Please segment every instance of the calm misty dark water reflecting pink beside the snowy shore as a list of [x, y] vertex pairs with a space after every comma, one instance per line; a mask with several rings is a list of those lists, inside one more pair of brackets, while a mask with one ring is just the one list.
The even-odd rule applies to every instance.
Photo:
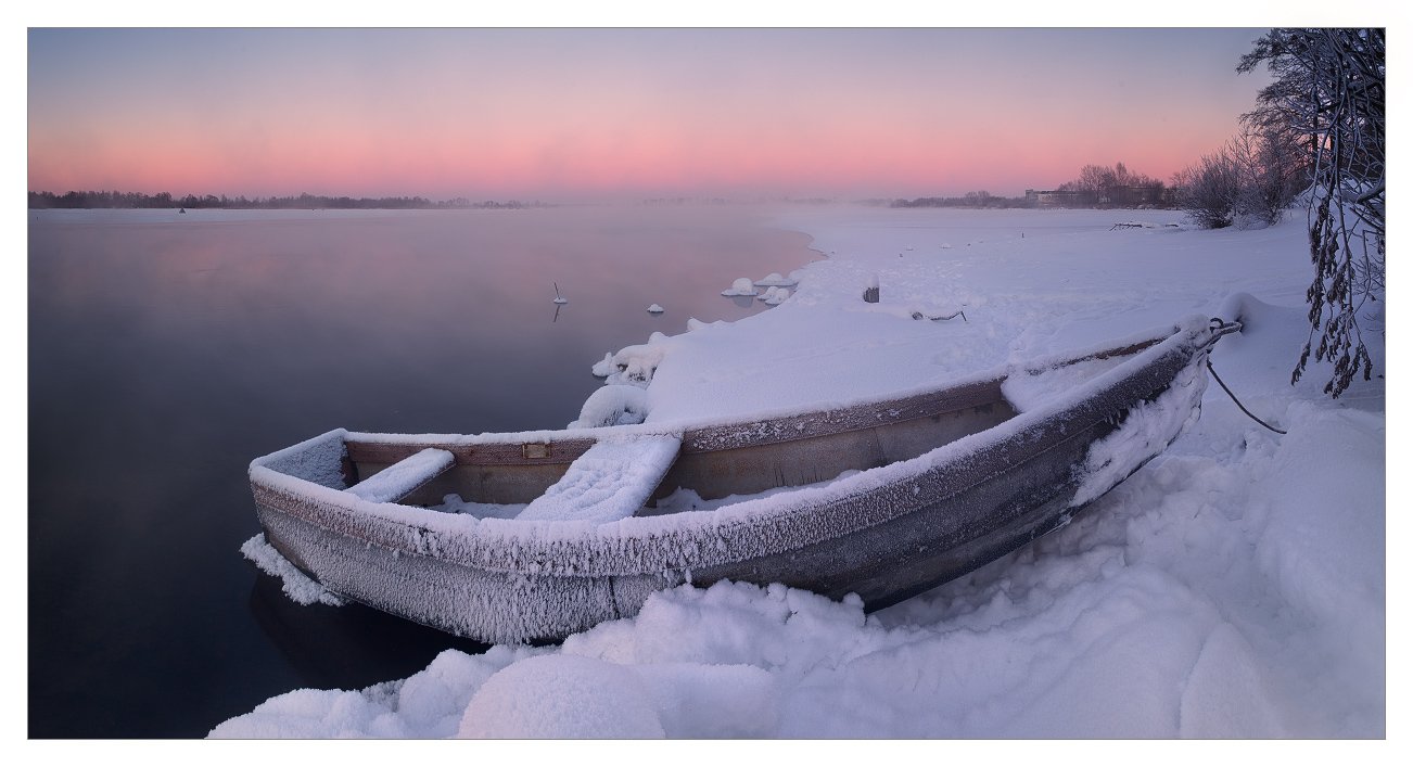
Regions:
[[285, 599], [237, 551], [250, 459], [562, 427], [606, 352], [764, 311], [719, 292], [814, 256], [736, 209], [28, 216], [31, 737], [199, 737], [482, 650]]

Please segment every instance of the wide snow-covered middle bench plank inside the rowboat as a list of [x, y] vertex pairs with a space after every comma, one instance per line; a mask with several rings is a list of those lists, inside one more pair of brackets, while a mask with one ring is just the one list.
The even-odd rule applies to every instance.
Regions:
[[681, 444], [673, 435], [599, 439], [516, 518], [606, 523], [632, 517], [677, 460]]

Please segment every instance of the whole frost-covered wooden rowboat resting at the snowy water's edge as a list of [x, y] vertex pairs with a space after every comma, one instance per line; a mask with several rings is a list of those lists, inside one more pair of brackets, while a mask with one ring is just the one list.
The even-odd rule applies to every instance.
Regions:
[[[336, 429], [256, 459], [250, 484], [268, 542], [326, 589], [482, 641], [560, 640], [721, 579], [877, 609], [1067, 524], [1159, 455], [1197, 418], [1202, 363], [1235, 329], [1193, 319], [733, 422]], [[663, 509], [678, 489], [725, 500]], [[438, 510], [452, 493], [499, 511]]]

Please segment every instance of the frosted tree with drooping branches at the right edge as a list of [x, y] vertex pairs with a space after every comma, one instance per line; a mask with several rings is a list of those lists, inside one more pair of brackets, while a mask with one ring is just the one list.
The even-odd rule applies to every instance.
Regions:
[[1316, 277], [1306, 292], [1310, 339], [1290, 380], [1300, 380], [1314, 346], [1317, 362], [1334, 363], [1324, 388], [1332, 397], [1373, 370], [1359, 319], [1368, 301], [1383, 299], [1383, 51], [1382, 28], [1272, 30], [1236, 66], [1265, 62], [1273, 76], [1246, 120], [1300, 136], [1310, 155]]

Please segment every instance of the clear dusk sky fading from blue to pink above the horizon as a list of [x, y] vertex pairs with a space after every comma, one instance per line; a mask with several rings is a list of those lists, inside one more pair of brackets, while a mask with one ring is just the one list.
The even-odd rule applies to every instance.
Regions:
[[1229, 138], [1260, 30], [34, 30], [31, 191], [1019, 195]]

